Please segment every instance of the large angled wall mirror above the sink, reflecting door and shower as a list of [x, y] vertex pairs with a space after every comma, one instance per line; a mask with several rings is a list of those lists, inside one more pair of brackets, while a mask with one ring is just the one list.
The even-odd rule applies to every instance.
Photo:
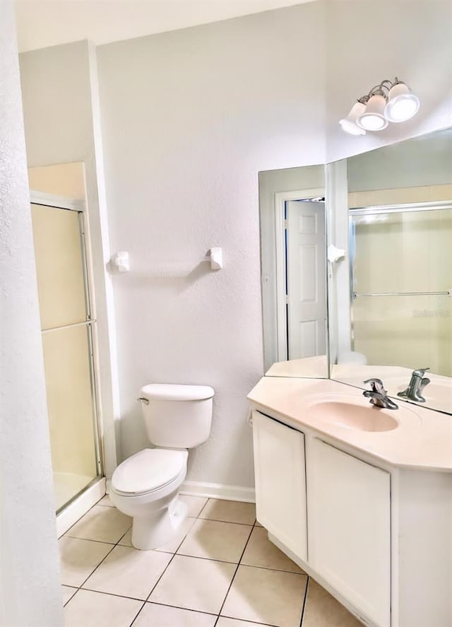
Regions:
[[452, 414], [452, 129], [259, 187], [266, 374]]

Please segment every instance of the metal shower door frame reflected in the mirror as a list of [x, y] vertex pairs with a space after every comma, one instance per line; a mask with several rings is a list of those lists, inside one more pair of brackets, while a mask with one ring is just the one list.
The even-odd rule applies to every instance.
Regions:
[[353, 216], [377, 216], [382, 213], [415, 213], [416, 211], [439, 211], [452, 209], [452, 200], [431, 202], [408, 202], [403, 204], [371, 205], [353, 207], [348, 210], [348, 250], [350, 273], [350, 345], [355, 350], [355, 325], [353, 321], [353, 301], [355, 300], [353, 262], [355, 261], [355, 235], [353, 233]]

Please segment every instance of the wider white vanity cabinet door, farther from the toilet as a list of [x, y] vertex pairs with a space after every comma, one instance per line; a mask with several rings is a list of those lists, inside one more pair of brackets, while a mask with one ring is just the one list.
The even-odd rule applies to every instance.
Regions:
[[390, 474], [309, 443], [309, 563], [379, 627], [390, 625]]

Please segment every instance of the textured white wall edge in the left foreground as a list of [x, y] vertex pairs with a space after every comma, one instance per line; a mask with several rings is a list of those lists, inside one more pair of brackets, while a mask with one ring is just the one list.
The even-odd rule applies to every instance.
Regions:
[[0, 624], [63, 624], [12, 3], [0, 2]]

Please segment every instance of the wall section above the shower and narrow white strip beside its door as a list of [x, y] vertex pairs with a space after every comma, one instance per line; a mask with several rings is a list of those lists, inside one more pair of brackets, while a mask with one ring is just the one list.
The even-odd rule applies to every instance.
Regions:
[[20, 78], [28, 166], [37, 168], [81, 161], [85, 164], [100, 348], [97, 386], [105, 428], [105, 470], [110, 476], [116, 467], [119, 445], [119, 438], [117, 443], [114, 441], [115, 424], [117, 426], [119, 421], [119, 398], [112, 284], [106, 272], [109, 241], [93, 46], [88, 42], [76, 42], [20, 54]]

